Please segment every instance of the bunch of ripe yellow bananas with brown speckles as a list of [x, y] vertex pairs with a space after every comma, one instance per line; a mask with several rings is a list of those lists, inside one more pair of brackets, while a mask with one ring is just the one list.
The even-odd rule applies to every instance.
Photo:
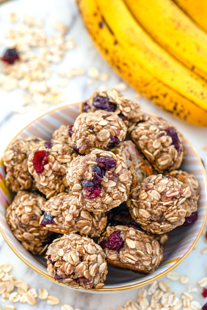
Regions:
[[207, 1], [76, 1], [99, 51], [126, 81], [173, 115], [207, 126]]

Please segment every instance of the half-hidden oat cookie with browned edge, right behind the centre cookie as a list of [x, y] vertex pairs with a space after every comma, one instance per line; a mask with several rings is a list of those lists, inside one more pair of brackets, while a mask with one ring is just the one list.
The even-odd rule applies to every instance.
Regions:
[[148, 162], [144, 155], [137, 149], [136, 144], [131, 140], [124, 141], [119, 147], [121, 155], [125, 156], [126, 162], [133, 176], [131, 188], [140, 185], [149, 175], [157, 174], [153, 166]]

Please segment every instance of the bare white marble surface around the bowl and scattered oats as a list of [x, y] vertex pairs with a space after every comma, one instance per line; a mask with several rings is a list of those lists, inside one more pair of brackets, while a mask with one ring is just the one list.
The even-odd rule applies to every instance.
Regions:
[[[79, 17], [78, 10], [72, 0], [15, 0], [9, 1], [0, 6], [0, 42], [2, 42], [1, 50], [6, 47], [3, 33], [5, 29], [10, 27], [9, 14], [16, 12], [19, 15], [29, 14], [36, 18], [46, 21], [46, 29], [48, 34], [53, 34], [53, 25], [56, 20], [69, 26], [69, 35], [74, 41], [77, 42], [77, 47], [68, 52], [63, 61], [63, 68], [83, 67], [89, 69], [96, 67], [101, 73], [109, 73], [110, 79], [103, 82], [96, 82], [92, 86], [87, 85], [88, 76], [77, 77], [70, 80], [68, 87], [64, 89], [67, 101], [64, 104], [78, 102], [85, 100], [93, 90], [98, 89], [100, 85], [106, 85], [107, 88], [113, 87], [120, 81], [119, 77], [113, 70], [106, 64], [106, 62], [99, 55], [97, 50], [93, 47], [92, 41], [88, 33], [83, 27], [82, 21]], [[55, 66], [54, 66], [55, 68]], [[135, 91], [128, 86], [128, 89], [123, 92], [133, 99]], [[1, 98], [1, 113], [0, 113], [0, 153], [6, 148], [9, 141], [29, 122], [41, 115], [43, 112], [36, 111], [32, 107], [28, 107], [26, 113], [16, 114], [13, 109], [19, 104], [20, 91], [5, 92], [0, 89]], [[149, 101], [141, 99], [141, 106], [152, 112], [158, 113], [160, 116], [173, 122], [179, 130], [187, 137], [191, 144], [196, 148], [200, 157], [205, 162], [207, 167], [207, 151], [203, 150], [204, 144], [207, 144], [207, 128], [196, 127], [161, 111]], [[54, 106], [50, 107], [51, 109]], [[181, 275], [187, 274], [190, 276], [190, 284], [196, 286], [196, 282], [206, 275], [205, 268], [207, 267], [206, 258], [207, 254], [201, 255], [200, 250], [207, 247], [205, 238], [202, 235], [197, 243], [196, 249], [188, 255], [188, 257], [175, 269]], [[9, 248], [6, 242], [0, 236], [0, 264], [11, 263], [13, 266], [13, 274], [18, 279], [23, 279], [30, 284], [31, 287], [41, 288], [45, 287], [49, 290], [50, 294], [56, 295], [61, 299], [61, 304], [69, 303], [74, 308], [82, 308], [83, 310], [104, 310], [106, 308], [117, 309], [118, 306], [124, 304], [127, 299], [135, 299], [137, 289], [128, 290], [114, 294], [88, 294], [70, 290], [69, 288], [62, 287], [56, 283], [52, 283], [43, 278], [39, 274], [33, 272], [28, 268]], [[168, 280], [169, 281], [169, 280]], [[170, 281], [169, 281], [170, 282]], [[182, 286], [178, 282], [170, 282], [172, 290], [177, 294], [187, 290], [187, 286]], [[196, 300], [200, 301], [201, 305], [207, 302], [201, 294], [201, 289], [198, 288], [198, 293], [192, 293]], [[0, 300], [0, 306], [9, 304]], [[16, 304], [16, 309], [60, 309], [60, 305], [50, 306], [45, 301], [38, 301], [36, 306], [29, 306], [27, 304]]]

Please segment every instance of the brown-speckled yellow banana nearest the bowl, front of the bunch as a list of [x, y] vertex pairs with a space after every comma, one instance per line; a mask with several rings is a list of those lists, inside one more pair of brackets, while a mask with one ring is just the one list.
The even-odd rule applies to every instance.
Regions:
[[102, 55], [159, 107], [207, 126], [207, 84], [159, 47], [120, 0], [78, 0], [88, 32]]

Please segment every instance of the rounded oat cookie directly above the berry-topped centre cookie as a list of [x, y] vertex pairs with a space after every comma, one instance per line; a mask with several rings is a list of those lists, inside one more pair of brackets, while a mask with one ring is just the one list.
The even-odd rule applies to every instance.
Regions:
[[96, 111], [80, 114], [72, 126], [71, 145], [79, 154], [95, 148], [113, 150], [125, 139], [127, 127], [113, 112]]

